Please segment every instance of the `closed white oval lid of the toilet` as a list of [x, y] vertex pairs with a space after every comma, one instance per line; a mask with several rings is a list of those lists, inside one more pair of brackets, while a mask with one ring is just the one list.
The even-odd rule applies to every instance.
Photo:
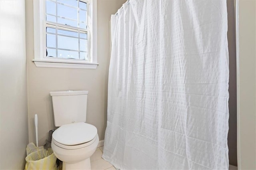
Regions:
[[64, 145], [76, 145], [91, 141], [97, 134], [97, 128], [88, 123], [79, 122], [62, 125], [57, 128], [52, 138]]

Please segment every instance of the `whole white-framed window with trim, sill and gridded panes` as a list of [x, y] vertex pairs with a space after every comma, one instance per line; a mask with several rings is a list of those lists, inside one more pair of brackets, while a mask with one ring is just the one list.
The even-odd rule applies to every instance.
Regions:
[[34, 0], [37, 67], [96, 69], [95, 0]]

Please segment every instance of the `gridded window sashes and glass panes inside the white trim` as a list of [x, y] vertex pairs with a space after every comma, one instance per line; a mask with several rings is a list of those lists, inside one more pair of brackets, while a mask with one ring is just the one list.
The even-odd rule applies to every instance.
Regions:
[[46, 0], [46, 58], [91, 62], [88, 2]]

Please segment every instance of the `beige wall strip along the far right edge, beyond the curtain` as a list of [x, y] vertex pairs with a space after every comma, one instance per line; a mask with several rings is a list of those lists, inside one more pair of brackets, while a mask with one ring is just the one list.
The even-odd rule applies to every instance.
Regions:
[[256, 1], [238, 1], [238, 168], [256, 169]]

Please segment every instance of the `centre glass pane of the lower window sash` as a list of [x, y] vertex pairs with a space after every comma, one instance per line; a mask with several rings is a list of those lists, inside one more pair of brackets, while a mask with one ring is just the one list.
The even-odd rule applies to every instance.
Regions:
[[78, 38], [58, 36], [58, 48], [78, 50]]

